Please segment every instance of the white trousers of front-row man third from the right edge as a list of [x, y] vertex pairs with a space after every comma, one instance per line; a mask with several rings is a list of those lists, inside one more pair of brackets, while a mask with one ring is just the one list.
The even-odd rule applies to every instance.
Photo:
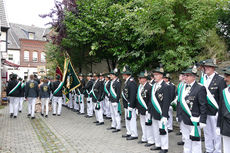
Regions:
[[[181, 124], [183, 124], [182, 133], [184, 135], [185, 141], [184, 141], [184, 153], [201, 153], [201, 141], [192, 141], [190, 139], [190, 133], [192, 131], [193, 126], [184, 124], [183, 121], [181, 121]], [[200, 127], [198, 126], [199, 134]], [[205, 140], [206, 141], [206, 140]]]

